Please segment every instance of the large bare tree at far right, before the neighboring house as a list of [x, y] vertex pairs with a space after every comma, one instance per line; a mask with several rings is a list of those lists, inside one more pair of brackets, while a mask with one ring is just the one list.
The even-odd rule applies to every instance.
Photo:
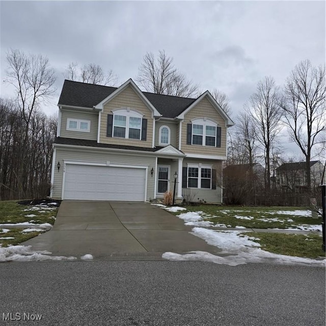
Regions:
[[290, 139], [306, 158], [308, 189], [311, 189], [310, 159], [313, 147], [324, 142], [321, 137], [326, 130], [325, 98], [325, 67], [313, 67], [309, 60], [296, 65], [286, 80], [281, 107]]

